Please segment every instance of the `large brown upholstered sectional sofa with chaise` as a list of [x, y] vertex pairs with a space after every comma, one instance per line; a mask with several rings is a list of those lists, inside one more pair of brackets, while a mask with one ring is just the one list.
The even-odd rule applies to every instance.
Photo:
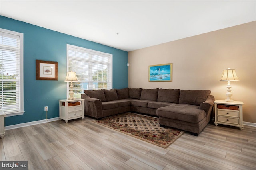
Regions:
[[84, 90], [84, 115], [100, 119], [127, 111], [159, 117], [169, 126], [198, 135], [210, 122], [214, 96], [210, 90], [142, 89]]

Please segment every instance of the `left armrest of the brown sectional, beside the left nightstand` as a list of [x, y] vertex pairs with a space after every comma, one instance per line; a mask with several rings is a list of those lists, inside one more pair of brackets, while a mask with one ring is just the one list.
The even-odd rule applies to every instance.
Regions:
[[103, 116], [100, 99], [90, 98], [86, 94], [81, 94], [81, 98], [84, 99], [84, 115], [95, 117], [96, 119]]

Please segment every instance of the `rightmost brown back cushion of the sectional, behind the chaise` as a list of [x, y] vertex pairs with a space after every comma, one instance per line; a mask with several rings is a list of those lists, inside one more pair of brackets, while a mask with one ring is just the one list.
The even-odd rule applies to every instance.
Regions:
[[211, 90], [180, 90], [180, 104], [200, 105], [211, 94]]

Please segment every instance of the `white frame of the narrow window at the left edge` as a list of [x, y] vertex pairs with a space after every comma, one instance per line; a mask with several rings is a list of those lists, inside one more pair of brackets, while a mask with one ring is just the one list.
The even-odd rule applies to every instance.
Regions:
[[[10, 31], [7, 29], [2, 29], [0, 28], [0, 34], [5, 33], [9, 35], [16, 35], [20, 37], [20, 61], [19, 61], [19, 95], [18, 95], [18, 100], [19, 100], [19, 109], [16, 111], [4, 111], [6, 114], [5, 117], [9, 116], [16, 116], [16, 115], [23, 115], [24, 113], [24, 88], [23, 88], [23, 33], [15, 32], [15, 31]], [[1, 47], [1, 49], [4, 49], [4, 47]], [[5, 80], [5, 79], [3, 79]]]

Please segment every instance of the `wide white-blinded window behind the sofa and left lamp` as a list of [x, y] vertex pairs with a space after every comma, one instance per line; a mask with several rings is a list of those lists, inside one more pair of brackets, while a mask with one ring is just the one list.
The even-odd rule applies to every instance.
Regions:
[[[76, 72], [75, 98], [84, 90], [112, 89], [112, 54], [67, 44], [67, 69]], [[67, 97], [70, 83], [67, 88]]]

